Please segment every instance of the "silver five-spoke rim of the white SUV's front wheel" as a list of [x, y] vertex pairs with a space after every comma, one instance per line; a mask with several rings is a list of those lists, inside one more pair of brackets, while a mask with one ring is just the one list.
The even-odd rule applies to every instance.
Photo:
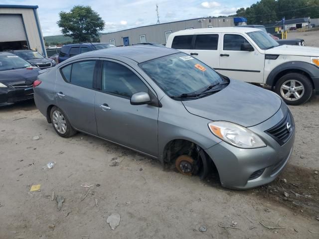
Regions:
[[288, 80], [280, 88], [281, 96], [288, 101], [297, 101], [305, 93], [304, 85], [297, 80]]

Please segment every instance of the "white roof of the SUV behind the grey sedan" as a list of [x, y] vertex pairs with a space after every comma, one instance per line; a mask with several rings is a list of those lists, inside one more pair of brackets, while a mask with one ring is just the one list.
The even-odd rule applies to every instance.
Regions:
[[198, 33], [228, 33], [228, 32], [239, 32], [246, 33], [251, 31], [260, 31], [258, 28], [253, 27], [210, 27], [210, 28], [196, 28], [176, 31], [172, 35], [187, 35], [187, 34], [198, 34]]

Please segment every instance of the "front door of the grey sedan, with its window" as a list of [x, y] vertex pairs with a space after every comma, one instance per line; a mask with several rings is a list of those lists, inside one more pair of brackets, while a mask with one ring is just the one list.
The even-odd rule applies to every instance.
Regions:
[[149, 92], [149, 88], [132, 68], [103, 61], [101, 91], [95, 93], [98, 135], [157, 157], [159, 108], [131, 105], [131, 96], [137, 92]]

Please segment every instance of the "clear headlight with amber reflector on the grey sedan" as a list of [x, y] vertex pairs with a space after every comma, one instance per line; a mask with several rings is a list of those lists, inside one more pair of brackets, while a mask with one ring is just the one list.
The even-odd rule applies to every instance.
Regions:
[[217, 137], [239, 148], [260, 148], [266, 146], [257, 134], [235, 123], [215, 121], [208, 123], [208, 127]]

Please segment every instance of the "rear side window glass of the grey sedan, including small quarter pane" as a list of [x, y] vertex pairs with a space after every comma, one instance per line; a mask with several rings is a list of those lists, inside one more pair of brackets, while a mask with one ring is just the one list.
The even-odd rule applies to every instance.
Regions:
[[93, 88], [95, 60], [79, 61], [61, 69], [65, 81], [85, 88]]

